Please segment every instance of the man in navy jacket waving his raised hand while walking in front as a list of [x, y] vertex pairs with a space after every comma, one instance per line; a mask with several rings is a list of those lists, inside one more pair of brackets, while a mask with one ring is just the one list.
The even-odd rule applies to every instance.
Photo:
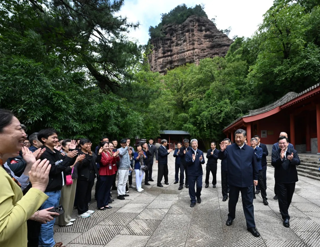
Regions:
[[239, 129], [235, 132], [236, 143], [226, 146], [221, 141], [220, 144], [218, 157], [228, 160], [229, 213], [226, 225], [231, 226], [236, 218], [236, 204], [241, 192], [247, 229], [253, 236], [259, 237], [253, 212], [253, 186], [258, 184], [259, 171], [253, 148], [244, 143], [246, 137], [246, 131]]

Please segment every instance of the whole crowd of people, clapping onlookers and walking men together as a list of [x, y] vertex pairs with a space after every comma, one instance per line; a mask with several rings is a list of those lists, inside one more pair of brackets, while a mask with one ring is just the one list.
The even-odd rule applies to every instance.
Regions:
[[[163, 139], [156, 147], [153, 139], [130, 146], [130, 139], [109, 141], [100, 139], [99, 145], [92, 151], [89, 139], [59, 139], [57, 131], [43, 129], [26, 134], [26, 127], [20, 124], [12, 112], [0, 109], [0, 244], [1, 246], [42, 246], [63, 247], [56, 243], [53, 236], [55, 217], [60, 226], [71, 226], [72, 210], [76, 208], [78, 218], [87, 218], [94, 213], [89, 210], [92, 201], [92, 188], [95, 179], [95, 200], [97, 210], [111, 209], [112, 190], [117, 191], [117, 199], [128, 197], [128, 188], [142, 192], [144, 185], [150, 186], [154, 156], [158, 164], [157, 186], [169, 185], [168, 155], [175, 157], [175, 181], [180, 182], [178, 190], [185, 185], [190, 196], [190, 207], [201, 203], [202, 165], [206, 163], [205, 188], [209, 187], [210, 173], [212, 185], [216, 187], [218, 159], [221, 160], [222, 201], [229, 198], [227, 226], [235, 219], [236, 203], [239, 193], [242, 195], [244, 214], [248, 231], [260, 236], [255, 228], [253, 199], [261, 192], [263, 203], [268, 205], [266, 194], [266, 169], [268, 149], [260, 143], [259, 136], [250, 140], [250, 146], [244, 143], [244, 130], [235, 132], [235, 143], [224, 139], [220, 151], [216, 143], [206, 156], [198, 149], [196, 139], [184, 139], [177, 148], [167, 149], [168, 142]], [[275, 193], [279, 200], [279, 209], [283, 224], [289, 227], [288, 208], [298, 181], [296, 165], [300, 164], [297, 151], [290, 147], [286, 133], [281, 133], [272, 152], [272, 165], [275, 167]], [[5, 162], [4, 162], [5, 161]], [[135, 186], [132, 184], [132, 171], [135, 172]], [[179, 179], [180, 170], [180, 179]], [[116, 184], [117, 177], [117, 184]], [[128, 183], [129, 182], [129, 187]], [[256, 186], [256, 191], [254, 189]], [[258, 187], [259, 186], [259, 187]], [[275, 196], [275, 197], [276, 197]], [[277, 199], [277, 198], [274, 198]], [[56, 209], [62, 205], [64, 213]], [[28, 229], [28, 231], [27, 231]]]

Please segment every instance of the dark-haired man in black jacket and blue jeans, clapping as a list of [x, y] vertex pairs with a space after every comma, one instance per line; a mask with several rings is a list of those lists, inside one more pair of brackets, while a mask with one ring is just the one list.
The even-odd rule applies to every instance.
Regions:
[[[44, 193], [49, 198], [41, 205], [40, 210], [57, 207], [60, 201], [61, 188], [65, 184], [65, 176], [63, 171], [70, 165], [70, 161], [77, 155], [77, 151], [71, 151], [67, 156], [63, 157], [60, 151], [54, 149], [58, 142], [57, 131], [52, 129], [45, 129], [38, 132], [38, 140], [43, 144], [42, 148], [45, 148], [41, 160], [47, 159], [51, 164], [49, 172], [49, 183]], [[72, 148], [69, 146], [69, 148]], [[52, 247], [55, 245], [53, 239], [53, 225], [55, 219], [42, 224], [39, 235], [39, 245], [43, 247]]]

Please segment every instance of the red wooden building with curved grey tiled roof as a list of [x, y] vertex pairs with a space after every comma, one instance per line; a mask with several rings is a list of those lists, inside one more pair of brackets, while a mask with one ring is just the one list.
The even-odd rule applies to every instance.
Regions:
[[287, 132], [298, 153], [320, 154], [320, 83], [299, 94], [289, 92], [271, 105], [249, 111], [223, 132], [234, 141], [237, 129], [247, 131], [248, 141], [259, 135], [268, 150], [277, 142], [280, 132]]

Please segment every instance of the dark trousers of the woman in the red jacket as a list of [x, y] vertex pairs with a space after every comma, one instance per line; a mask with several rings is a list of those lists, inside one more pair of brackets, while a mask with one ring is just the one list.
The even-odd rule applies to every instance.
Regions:
[[109, 198], [111, 196], [110, 190], [113, 183], [113, 178], [115, 175], [105, 175], [99, 176], [100, 187], [97, 196], [97, 207], [102, 208], [108, 206]]

